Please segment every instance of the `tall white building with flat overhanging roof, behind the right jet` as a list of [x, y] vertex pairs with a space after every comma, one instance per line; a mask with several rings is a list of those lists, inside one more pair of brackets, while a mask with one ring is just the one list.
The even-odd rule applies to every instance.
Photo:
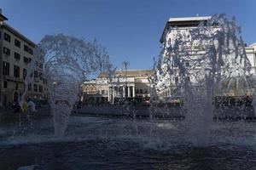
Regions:
[[[164, 28], [164, 31], [160, 37], [160, 43], [162, 47], [164, 48], [169, 47], [171, 44], [175, 42], [177, 39], [177, 34], [182, 35], [182, 40], [184, 42], [189, 39], [189, 31], [197, 28], [200, 23], [206, 23], [207, 20], [210, 20], [211, 16], [202, 16], [202, 17], [182, 17], [182, 18], [170, 18], [166, 26]], [[175, 28], [172, 31], [171, 28]], [[216, 31], [217, 27], [212, 27], [212, 31]], [[184, 46], [187, 44], [183, 44]], [[197, 48], [197, 44], [193, 44], [192, 48], [190, 48], [190, 44], [188, 45], [189, 48], [188, 53], [191, 54], [193, 57], [199, 57], [200, 55], [204, 54], [204, 51], [200, 51], [199, 48]], [[182, 56], [180, 56], [182, 57]], [[184, 56], [185, 57], [185, 56]], [[168, 62], [164, 62], [168, 59]], [[162, 63], [160, 64], [161, 69], [163, 72], [168, 72], [168, 66], [171, 65], [172, 71], [177, 71], [178, 67], [176, 62], [174, 62], [174, 59], [169, 58], [166, 55], [166, 51], [163, 51], [163, 56], [161, 59]], [[192, 65], [189, 61], [189, 59], [186, 61], [186, 69], [189, 70], [190, 65]], [[157, 82], [156, 90], [160, 97], [160, 99], [164, 99], [166, 97], [169, 97], [172, 95], [173, 91], [177, 87], [177, 84], [180, 82], [180, 75], [178, 74], [165, 74], [160, 75], [160, 72], [157, 73], [157, 77], [159, 78], [159, 82]], [[190, 82], [195, 82], [194, 77], [188, 77]]]

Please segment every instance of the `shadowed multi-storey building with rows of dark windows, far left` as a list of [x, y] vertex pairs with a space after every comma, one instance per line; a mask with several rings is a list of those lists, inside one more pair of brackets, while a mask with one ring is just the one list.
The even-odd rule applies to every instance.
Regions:
[[[8, 20], [0, 13], [0, 103], [10, 105], [20, 97], [24, 91], [24, 80], [27, 65], [33, 57], [36, 44], [23, 36], [19, 31], [6, 23]], [[45, 81], [43, 76], [43, 62], [37, 61], [34, 83], [29, 85], [30, 97], [44, 98]]]

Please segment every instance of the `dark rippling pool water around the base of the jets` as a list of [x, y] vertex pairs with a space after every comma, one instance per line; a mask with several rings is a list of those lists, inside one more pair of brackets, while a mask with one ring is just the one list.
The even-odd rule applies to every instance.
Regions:
[[71, 116], [62, 139], [55, 138], [49, 117], [32, 128], [5, 123], [0, 169], [253, 169], [255, 123], [214, 122], [206, 148], [191, 145], [181, 120]]

